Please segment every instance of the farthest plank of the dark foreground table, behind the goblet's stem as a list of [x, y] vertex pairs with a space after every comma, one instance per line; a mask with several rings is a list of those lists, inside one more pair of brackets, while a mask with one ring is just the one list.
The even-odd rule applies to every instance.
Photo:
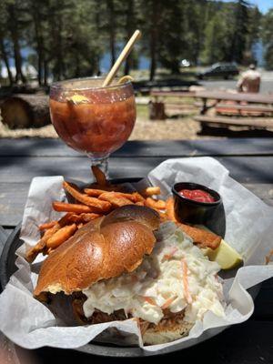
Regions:
[[[128, 141], [113, 157], [273, 156], [272, 138]], [[82, 157], [59, 139], [0, 139], [2, 157]], [[0, 160], [0, 166], [3, 161]]]

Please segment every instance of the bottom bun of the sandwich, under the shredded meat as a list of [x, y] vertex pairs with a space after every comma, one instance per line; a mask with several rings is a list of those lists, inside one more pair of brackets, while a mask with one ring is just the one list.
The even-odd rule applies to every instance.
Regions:
[[143, 343], [145, 345], [157, 345], [165, 344], [170, 341], [175, 341], [177, 339], [184, 338], [188, 335], [189, 330], [193, 327], [190, 322], [180, 322], [174, 327], [164, 328], [161, 325], [159, 327], [155, 326], [148, 328], [143, 334]]

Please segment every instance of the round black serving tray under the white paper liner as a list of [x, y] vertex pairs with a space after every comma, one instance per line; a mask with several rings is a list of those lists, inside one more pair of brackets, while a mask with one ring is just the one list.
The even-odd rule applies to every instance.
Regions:
[[[123, 178], [123, 179], [115, 179], [112, 180], [112, 183], [136, 183], [139, 182], [142, 178]], [[23, 241], [20, 240], [20, 231], [21, 224], [17, 225], [14, 231], [10, 234], [10, 236], [6, 239], [5, 247], [3, 248], [2, 255], [0, 258], [0, 282], [2, 289], [5, 288], [6, 284], [9, 281], [9, 278], [15, 273], [15, 251], [19, 248]], [[248, 290], [252, 298], [256, 298], [258, 295], [260, 286], [256, 286]], [[183, 343], [183, 347], [181, 343], [174, 344], [173, 346], [167, 347], [165, 349], [160, 349], [157, 351], [147, 351], [136, 347], [122, 347], [116, 346], [112, 344], [101, 344], [95, 341], [92, 341], [89, 344], [81, 348], [77, 348], [77, 351], [85, 352], [87, 354], [99, 355], [104, 357], [120, 357], [120, 358], [136, 358], [136, 357], [147, 357], [147, 356], [156, 356], [161, 354], [167, 354], [170, 352], [174, 352], [181, 349], [186, 349], [197, 345], [197, 343], [203, 342], [207, 339], [213, 338], [220, 332], [227, 329], [227, 327], [222, 327], [218, 329], [208, 329], [205, 331], [201, 337], [197, 339], [192, 339], [187, 341], [187, 343]], [[186, 344], [186, 345], [185, 345]]]

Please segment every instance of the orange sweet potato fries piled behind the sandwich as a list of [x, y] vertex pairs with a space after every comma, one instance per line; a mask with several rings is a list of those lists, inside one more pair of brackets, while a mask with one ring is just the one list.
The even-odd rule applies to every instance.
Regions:
[[220, 237], [197, 227], [189, 227], [177, 222], [174, 212], [174, 201], [169, 197], [167, 201], [157, 198], [161, 194], [160, 187], [147, 187], [140, 192], [127, 193], [122, 185], [111, 185], [102, 171], [92, 167], [96, 183], [83, 191], [74, 184], [64, 182], [63, 187], [75, 203], [54, 201], [52, 207], [58, 212], [66, 212], [58, 221], [48, 221], [39, 227], [43, 233], [35, 247], [26, 253], [29, 262], [35, 260], [39, 253], [51, 254], [57, 247], [71, 238], [76, 230], [87, 222], [106, 216], [116, 207], [125, 205], [141, 205], [157, 210], [161, 220], [172, 220], [190, 236], [200, 248], [217, 248]]

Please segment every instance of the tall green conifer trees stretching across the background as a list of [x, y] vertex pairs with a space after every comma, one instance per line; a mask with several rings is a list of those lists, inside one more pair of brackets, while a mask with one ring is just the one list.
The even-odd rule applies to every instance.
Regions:
[[150, 59], [150, 79], [159, 66], [178, 73], [183, 58], [194, 65], [244, 63], [260, 34], [269, 64], [273, 15], [262, 19], [263, 32], [261, 17], [246, 0], [1, 0], [0, 56], [8, 68], [10, 57], [15, 59], [16, 76], [10, 82], [25, 82], [22, 46], [33, 50], [28, 59], [40, 85], [48, 76], [92, 76], [100, 72], [101, 57], [109, 53], [113, 64], [117, 45], [139, 28], [143, 37], [125, 73], [137, 65], [139, 55]]

